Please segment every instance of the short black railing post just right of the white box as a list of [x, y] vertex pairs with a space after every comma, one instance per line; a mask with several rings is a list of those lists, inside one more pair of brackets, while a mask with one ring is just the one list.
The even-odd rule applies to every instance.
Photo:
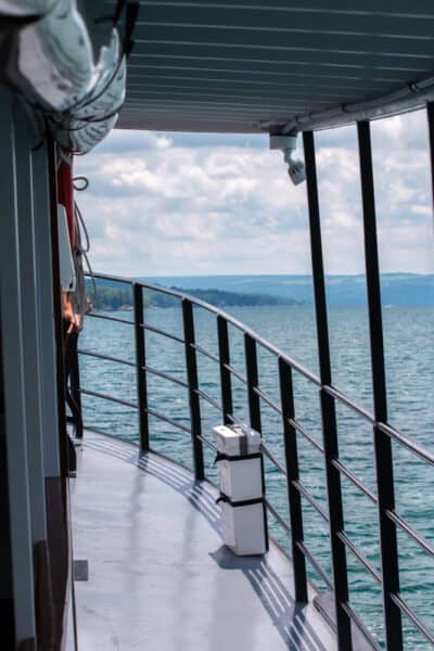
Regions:
[[298, 547], [298, 544], [303, 542], [304, 538], [302, 497], [299, 492], [294, 486], [294, 482], [298, 480], [297, 433], [295, 427], [290, 422], [290, 419], [294, 419], [295, 417], [292, 369], [281, 357], [279, 357], [279, 384], [288, 473], [286, 489], [292, 532], [291, 546], [292, 559], [294, 563], [295, 601], [298, 603], [307, 603], [306, 559], [305, 554]]

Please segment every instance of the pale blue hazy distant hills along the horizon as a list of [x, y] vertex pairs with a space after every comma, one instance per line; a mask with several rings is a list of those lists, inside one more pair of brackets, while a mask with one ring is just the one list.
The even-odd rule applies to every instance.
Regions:
[[[221, 292], [268, 294], [295, 302], [314, 302], [310, 276], [171, 276], [140, 280], [165, 286], [182, 286], [190, 293], [216, 288]], [[434, 305], [434, 275], [383, 273], [381, 291], [384, 305]], [[333, 306], [365, 305], [365, 277], [328, 276], [327, 296], [329, 305]]]

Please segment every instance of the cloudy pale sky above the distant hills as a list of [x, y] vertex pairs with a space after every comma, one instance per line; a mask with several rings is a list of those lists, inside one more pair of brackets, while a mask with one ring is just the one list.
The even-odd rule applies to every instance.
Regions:
[[[372, 125], [382, 271], [434, 271], [423, 112]], [[316, 136], [326, 271], [363, 270], [355, 127]], [[302, 152], [301, 152], [302, 155]], [[113, 131], [78, 158], [95, 271], [309, 273], [305, 183], [266, 136]]]

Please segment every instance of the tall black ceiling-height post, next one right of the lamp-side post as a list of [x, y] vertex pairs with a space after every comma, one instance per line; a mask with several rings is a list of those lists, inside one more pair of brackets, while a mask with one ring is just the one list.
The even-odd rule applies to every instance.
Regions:
[[[360, 155], [361, 197], [363, 204], [365, 260], [371, 342], [373, 407], [375, 421], [385, 423], [387, 422], [387, 393], [369, 123], [358, 123], [357, 130]], [[390, 651], [399, 651], [403, 649], [401, 614], [399, 608], [393, 601], [393, 596], [399, 592], [398, 547], [396, 525], [387, 516], [387, 511], [395, 509], [392, 442], [386, 434], [374, 426], [373, 445], [375, 450], [386, 648]]]

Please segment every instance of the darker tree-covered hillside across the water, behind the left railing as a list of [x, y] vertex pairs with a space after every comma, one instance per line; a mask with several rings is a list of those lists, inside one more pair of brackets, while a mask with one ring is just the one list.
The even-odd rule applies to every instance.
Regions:
[[[183, 294], [190, 294], [191, 296], [195, 296], [196, 298], [210, 303], [217, 307], [291, 306], [302, 304], [301, 301], [294, 301], [293, 298], [271, 296], [261, 293], [243, 294], [215, 289], [186, 290], [177, 286], [171, 286], [170, 289]], [[88, 291], [91, 295], [93, 294], [90, 282], [88, 284]], [[98, 293], [95, 297], [92, 296], [92, 301], [95, 309], [129, 309], [132, 307], [131, 289], [129, 286], [119, 286], [118, 283], [111, 281], [99, 281]], [[145, 292], [144, 304], [148, 307], [178, 307], [180, 305], [179, 299], [158, 292]]]

